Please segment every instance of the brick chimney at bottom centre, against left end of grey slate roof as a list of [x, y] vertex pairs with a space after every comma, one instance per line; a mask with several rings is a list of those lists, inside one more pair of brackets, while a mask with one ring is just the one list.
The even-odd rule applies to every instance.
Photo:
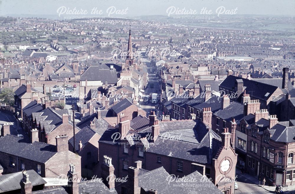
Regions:
[[128, 168], [128, 193], [140, 194], [140, 187], [138, 187], [138, 169], [135, 167]]

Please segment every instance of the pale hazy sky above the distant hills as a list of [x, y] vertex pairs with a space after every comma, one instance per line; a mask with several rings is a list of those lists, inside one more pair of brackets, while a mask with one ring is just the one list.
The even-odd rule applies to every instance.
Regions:
[[[140, 15], [168, 15], [169, 7], [172, 13], [176, 9], [185, 11], [200, 11], [203, 7], [211, 9], [215, 14], [216, 9], [224, 6], [225, 9], [236, 9], [236, 14], [269, 14], [269, 15], [295, 15], [295, 0], [0, 0], [0, 15], [8, 14], [48, 14], [58, 17], [58, 8], [87, 10], [97, 7], [103, 14], [122, 10], [121, 14], [110, 14], [110, 17], [128, 17]], [[108, 10], [109, 7], [112, 7]], [[60, 8], [63, 12], [64, 8]], [[127, 8], [127, 10], [126, 10]], [[168, 12], [169, 12], [168, 11]], [[174, 13], [173, 13], [174, 11]], [[222, 11], [222, 10], [221, 10]], [[101, 14], [101, 15], [103, 15]], [[65, 14], [61, 14], [65, 16]]]

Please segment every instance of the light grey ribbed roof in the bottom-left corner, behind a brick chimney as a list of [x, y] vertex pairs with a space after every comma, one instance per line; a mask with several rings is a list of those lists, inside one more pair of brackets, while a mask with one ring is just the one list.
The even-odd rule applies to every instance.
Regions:
[[[27, 174], [29, 174], [29, 180], [33, 186], [46, 183], [35, 170], [27, 170]], [[22, 172], [0, 175], [0, 193], [21, 189], [20, 180], [22, 180]]]

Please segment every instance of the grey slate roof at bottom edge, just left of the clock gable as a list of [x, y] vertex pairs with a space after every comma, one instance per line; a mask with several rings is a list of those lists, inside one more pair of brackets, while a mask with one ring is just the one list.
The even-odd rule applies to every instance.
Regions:
[[[190, 180], [194, 179], [196, 181], [192, 182], [191, 186], [188, 185], [186, 181], [182, 181], [181, 178], [178, 179], [178, 182], [169, 182], [169, 179], [167, 180], [167, 177], [169, 176], [169, 173], [163, 167], [160, 167], [138, 175], [138, 185], [145, 191], [148, 191], [149, 189], [157, 190], [158, 194], [221, 194], [221, 191], [212, 182], [202, 182], [201, 178], [203, 176], [197, 171], [186, 176], [186, 178], [189, 178]], [[193, 186], [194, 184], [200, 186]]]

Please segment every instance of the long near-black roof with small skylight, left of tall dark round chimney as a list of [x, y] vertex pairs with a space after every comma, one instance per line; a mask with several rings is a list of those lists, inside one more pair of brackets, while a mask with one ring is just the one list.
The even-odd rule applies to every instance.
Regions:
[[[224, 81], [222, 81], [219, 86], [229, 90], [234, 90], [236, 80], [243, 81], [243, 86], [246, 89], [246, 93], [260, 100], [268, 100], [270, 97], [272, 97], [272, 94], [276, 91], [276, 89], [278, 89], [278, 87], [275, 85], [269, 85], [233, 75], [227, 76], [227, 78], [224, 79]], [[267, 93], [269, 94], [267, 95]]]

